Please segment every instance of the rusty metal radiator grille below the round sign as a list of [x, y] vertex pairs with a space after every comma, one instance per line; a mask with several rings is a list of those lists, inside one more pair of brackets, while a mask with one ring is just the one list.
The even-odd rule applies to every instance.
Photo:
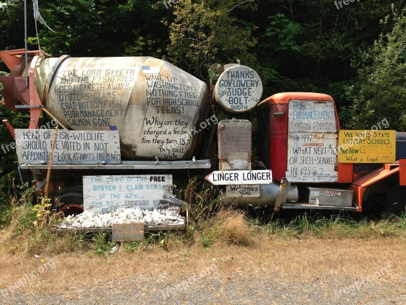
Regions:
[[251, 122], [246, 119], [222, 120], [217, 127], [220, 162], [252, 158]]

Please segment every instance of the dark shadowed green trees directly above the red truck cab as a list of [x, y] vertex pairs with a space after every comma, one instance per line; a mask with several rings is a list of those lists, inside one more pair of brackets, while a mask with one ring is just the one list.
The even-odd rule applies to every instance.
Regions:
[[264, 96], [322, 92], [346, 104], [345, 86], [356, 76], [351, 59], [382, 32], [379, 20], [390, 13], [391, 2], [354, 2], [337, 10], [331, 0], [260, 1], [255, 34], [266, 72]]

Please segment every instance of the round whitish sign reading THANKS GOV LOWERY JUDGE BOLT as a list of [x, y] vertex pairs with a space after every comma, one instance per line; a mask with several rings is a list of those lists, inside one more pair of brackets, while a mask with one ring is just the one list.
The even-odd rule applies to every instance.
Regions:
[[216, 102], [225, 111], [232, 113], [252, 110], [261, 96], [261, 78], [247, 66], [233, 66], [224, 70], [214, 87]]

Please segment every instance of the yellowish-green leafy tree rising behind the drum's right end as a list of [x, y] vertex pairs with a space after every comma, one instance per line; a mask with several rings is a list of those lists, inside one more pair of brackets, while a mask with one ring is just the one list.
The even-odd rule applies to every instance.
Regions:
[[253, 0], [180, 0], [170, 25], [168, 58], [202, 79], [207, 79], [207, 70], [214, 63], [240, 59], [243, 65], [254, 68], [255, 26], [239, 18], [240, 10], [252, 12], [256, 5]]

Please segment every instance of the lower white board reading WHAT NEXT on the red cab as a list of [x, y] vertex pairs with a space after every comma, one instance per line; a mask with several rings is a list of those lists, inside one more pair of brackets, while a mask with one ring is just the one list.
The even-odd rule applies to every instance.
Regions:
[[336, 182], [337, 133], [290, 133], [286, 177], [292, 182]]

